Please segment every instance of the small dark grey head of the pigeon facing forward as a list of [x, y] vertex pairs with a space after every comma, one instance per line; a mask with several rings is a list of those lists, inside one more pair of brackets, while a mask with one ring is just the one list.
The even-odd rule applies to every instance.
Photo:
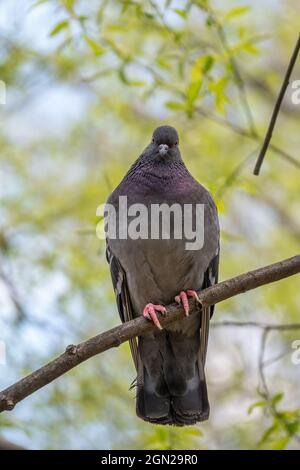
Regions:
[[178, 142], [178, 133], [174, 127], [160, 126], [153, 132], [151, 146], [157, 158], [161, 160], [178, 160], [181, 158]]

